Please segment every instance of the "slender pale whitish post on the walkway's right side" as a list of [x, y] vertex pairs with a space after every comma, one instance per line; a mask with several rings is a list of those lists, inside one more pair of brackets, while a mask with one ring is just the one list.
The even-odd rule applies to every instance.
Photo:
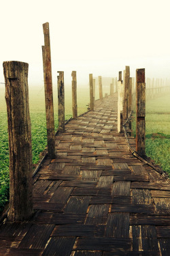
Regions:
[[123, 84], [122, 84], [122, 72], [119, 72], [118, 81], [118, 132], [122, 132], [122, 100], [123, 100]]

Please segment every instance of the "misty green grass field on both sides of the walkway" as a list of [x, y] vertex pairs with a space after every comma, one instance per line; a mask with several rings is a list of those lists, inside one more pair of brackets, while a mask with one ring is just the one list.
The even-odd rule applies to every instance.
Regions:
[[[103, 95], [109, 94], [103, 89]], [[96, 90], [96, 99], [99, 91]], [[9, 197], [9, 153], [7, 139], [7, 113], [5, 104], [5, 86], [0, 87], [0, 212]], [[170, 173], [170, 101], [167, 95], [151, 100], [146, 105], [146, 154], [153, 158], [163, 169]], [[57, 91], [54, 88], [54, 119], [57, 129]], [[31, 112], [31, 132], [33, 146], [33, 163], [39, 160], [39, 153], [46, 147], [46, 114], [44, 87], [29, 87]], [[78, 115], [87, 110], [89, 89], [78, 87]], [[71, 85], [65, 87], [65, 119], [71, 117]], [[133, 124], [133, 126], [135, 123]], [[135, 128], [135, 127], [134, 127]]]

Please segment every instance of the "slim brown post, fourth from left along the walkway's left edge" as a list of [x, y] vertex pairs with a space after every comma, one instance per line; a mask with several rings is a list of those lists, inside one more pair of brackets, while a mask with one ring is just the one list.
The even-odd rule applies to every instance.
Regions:
[[71, 76], [72, 76], [72, 111], [73, 111], [73, 119], [76, 119], [78, 118], [76, 71], [73, 71], [71, 73]]

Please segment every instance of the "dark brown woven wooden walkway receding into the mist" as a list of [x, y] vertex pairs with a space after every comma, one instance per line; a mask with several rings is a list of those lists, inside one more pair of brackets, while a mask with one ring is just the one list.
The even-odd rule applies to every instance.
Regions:
[[1, 224], [0, 255], [170, 255], [169, 180], [129, 152], [116, 120], [109, 96], [56, 136], [58, 157], [34, 178], [35, 214]]

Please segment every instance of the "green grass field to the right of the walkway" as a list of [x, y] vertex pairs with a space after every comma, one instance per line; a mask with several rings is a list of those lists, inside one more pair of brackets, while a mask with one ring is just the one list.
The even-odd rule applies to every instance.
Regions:
[[[146, 155], [170, 176], [170, 95], [146, 102]], [[133, 121], [135, 135], [135, 118]]]

